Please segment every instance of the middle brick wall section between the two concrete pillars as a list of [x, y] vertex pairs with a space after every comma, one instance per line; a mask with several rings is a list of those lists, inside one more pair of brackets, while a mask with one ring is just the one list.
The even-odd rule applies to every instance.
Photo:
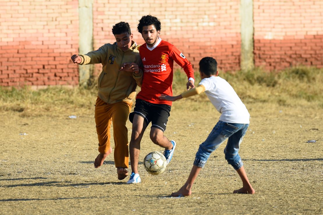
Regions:
[[[124, 4], [106, 0], [94, 3], [94, 46], [114, 42], [112, 26], [128, 22], [134, 41], [143, 44], [137, 31], [143, 15], [153, 15], [161, 21], [161, 38], [174, 44], [198, 70], [202, 57], [217, 59], [219, 68], [237, 70], [240, 62], [240, 0], [131, 0]], [[146, 4], [142, 3], [146, 2]], [[177, 64], [174, 64], [177, 65]], [[176, 67], [178, 68], [178, 67]]]

